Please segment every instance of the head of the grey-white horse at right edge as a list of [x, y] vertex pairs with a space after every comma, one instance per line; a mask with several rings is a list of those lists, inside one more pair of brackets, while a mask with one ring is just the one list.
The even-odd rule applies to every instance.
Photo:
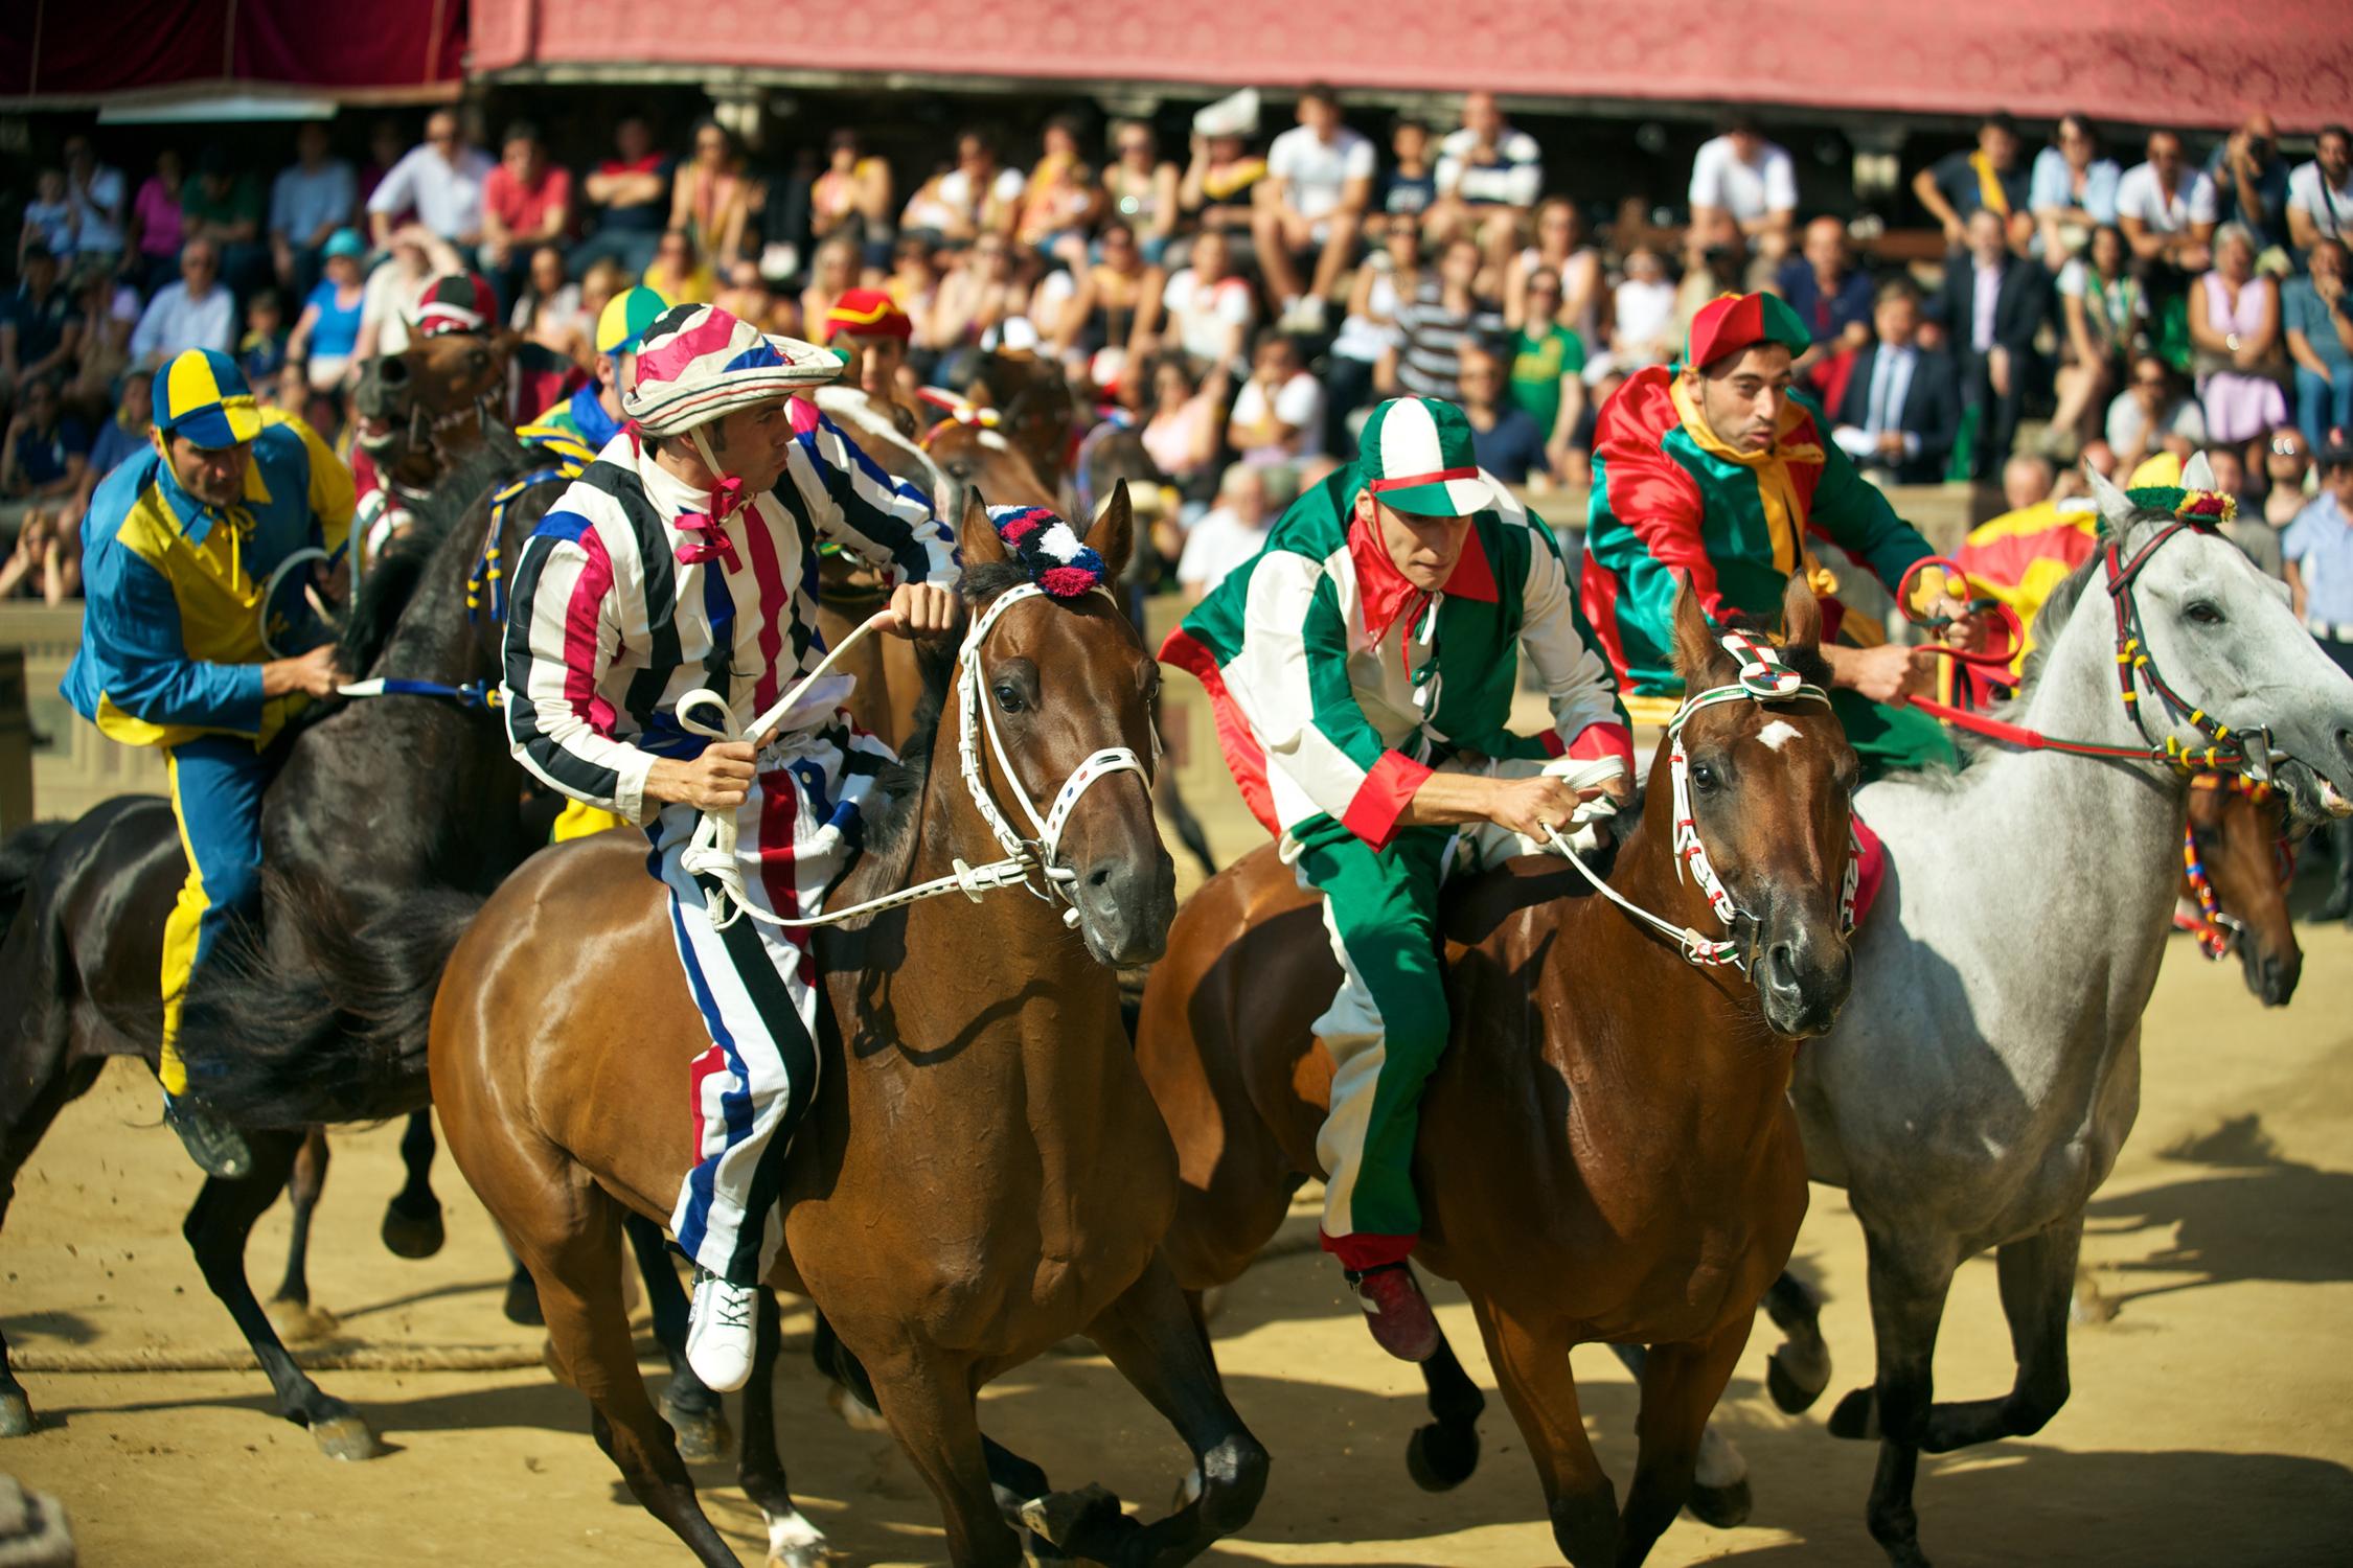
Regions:
[[[2092, 581], [2108, 595], [2085, 590], [2085, 597], [2122, 592], [2125, 609], [2139, 616], [2139, 651], [2148, 663], [2137, 705], [2146, 733], [2195, 750], [2212, 741], [2188, 712], [2172, 712], [2151, 684], [2162, 682], [2186, 710], [2228, 724], [2249, 748], [2261, 748], [2259, 731], [2268, 731], [2278, 755], [2273, 776], [2297, 823], [2353, 816], [2353, 677], [2320, 651], [2289, 611], [2287, 592], [2238, 545], [2202, 517], [2174, 510], [2181, 496], [2212, 491], [2205, 454], [2184, 468], [2181, 487], [2127, 494], [2092, 473], [2101, 529], [2115, 543], [2125, 581], [2099, 574]], [[2071, 616], [2068, 630], [2092, 637], [2075, 621], [2113, 630], [2115, 616], [2108, 602]]]

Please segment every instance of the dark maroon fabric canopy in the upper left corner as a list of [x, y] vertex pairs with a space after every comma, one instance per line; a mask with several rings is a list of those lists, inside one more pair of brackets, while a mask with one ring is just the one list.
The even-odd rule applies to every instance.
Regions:
[[449, 89], [468, 0], [7, 0], [0, 96], [94, 99], [188, 85], [395, 96]]

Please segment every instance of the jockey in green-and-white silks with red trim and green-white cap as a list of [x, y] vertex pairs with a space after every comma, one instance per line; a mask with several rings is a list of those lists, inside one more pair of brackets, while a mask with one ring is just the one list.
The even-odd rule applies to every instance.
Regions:
[[[1522, 651], [1541, 736], [1506, 729]], [[1438, 886], [1569, 820], [1579, 790], [1548, 759], [1631, 766], [1617, 686], [1551, 529], [1478, 468], [1464, 411], [1424, 397], [1374, 409], [1362, 456], [1299, 496], [1160, 656], [1207, 686], [1242, 799], [1325, 896], [1341, 966], [1315, 1020], [1334, 1060], [1325, 1248], [1374, 1338], [1419, 1361], [1438, 1328], [1405, 1258], [1421, 1084], [1449, 1037]]]

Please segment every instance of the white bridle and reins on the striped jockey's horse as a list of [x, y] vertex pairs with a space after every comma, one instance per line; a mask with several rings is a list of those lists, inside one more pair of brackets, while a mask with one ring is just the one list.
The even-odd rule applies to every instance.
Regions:
[[[1096, 588], [1092, 592], [1111, 599], [1111, 592]], [[901, 905], [918, 903], [922, 898], [936, 898], [939, 893], [962, 893], [972, 903], [981, 900], [981, 893], [1005, 886], [1026, 886], [1031, 893], [1045, 900], [1056, 896], [1066, 903], [1071, 900], [1071, 884], [1078, 882], [1078, 872], [1061, 865], [1061, 832], [1071, 823], [1071, 811], [1078, 809], [1080, 797], [1104, 778], [1113, 773], [1136, 773], [1144, 778], [1144, 788], [1151, 788], [1153, 771], [1146, 766], [1134, 750], [1125, 745], [1106, 745], [1092, 752], [1085, 762], [1071, 769], [1061, 788], [1054, 792], [1054, 802], [1047, 806], [1045, 816], [1038, 816], [1038, 804], [1031, 799], [1028, 788], [1021, 783], [1021, 771], [1014, 769], [1012, 757], [1005, 752], [1005, 741], [998, 736], [998, 717], [988, 703], [981, 677], [981, 644], [988, 639], [991, 628], [1005, 616], [1007, 609], [1021, 604], [1024, 599], [1049, 597], [1035, 583], [1019, 583], [1007, 588], [988, 609], [965, 630], [965, 642], [955, 654], [958, 677], [955, 677], [955, 701], [958, 701], [958, 733], [955, 750], [960, 771], [965, 776], [965, 790], [972, 795], [972, 806], [988, 823], [988, 832], [995, 837], [998, 846], [1005, 851], [1002, 860], [991, 860], [988, 865], [967, 865], [955, 860], [955, 870], [946, 877], [934, 877], [929, 882], [918, 882], [915, 886], [899, 889], [896, 893], [885, 893], [882, 898], [868, 898], [866, 903], [849, 905], [845, 910], [826, 910], [824, 914], [809, 914], [805, 919], [786, 919], [781, 914], [769, 914], [767, 910], [751, 903], [744, 891], [744, 865], [736, 860], [736, 816], [734, 811], [704, 811], [704, 820], [694, 825], [694, 837], [680, 853], [680, 867], [689, 877], [711, 877], [715, 884], [711, 896], [704, 900], [704, 914], [711, 919], [713, 931], [725, 931], [734, 924], [736, 914], [751, 914], [753, 919], [779, 926], [788, 931], [805, 931], [809, 926], [833, 926], [847, 919], [861, 919], [866, 914], [880, 914], [882, 910], [896, 910]], [[1115, 599], [1113, 599], [1115, 604]], [[776, 698], [776, 705], [762, 712], [753, 724], [739, 724], [734, 710], [727, 705], [718, 691], [708, 686], [696, 686], [678, 698], [678, 724], [696, 736], [711, 741], [741, 741], [746, 736], [765, 736], [767, 729], [784, 717], [800, 696], [816, 684], [833, 663], [847, 654], [856, 642], [875, 630], [894, 625], [896, 616], [892, 611], [875, 611], [856, 630], [835, 644], [814, 670], [802, 679], [793, 682], [791, 691]], [[720, 724], [706, 724], [689, 717], [694, 708], [715, 708], [722, 715]], [[1005, 785], [1014, 795], [1014, 804], [1021, 806], [1021, 816], [1028, 818], [1031, 827], [1038, 832], [1035, 839], [1024, 839], [1014, 832], [1005, 811], [998, 809], [995, 795], [988, 790], [988, 776], [981, 762], [981, 736], [988, 736], [988, 752], [998, 759], [998, 773], [1005, 776]], [[1031, 882], [1031, 875], [1042, 882]], [[1078, 905], [1073, 903], [1061, 914], [1066, 926], [1078, 926]]]

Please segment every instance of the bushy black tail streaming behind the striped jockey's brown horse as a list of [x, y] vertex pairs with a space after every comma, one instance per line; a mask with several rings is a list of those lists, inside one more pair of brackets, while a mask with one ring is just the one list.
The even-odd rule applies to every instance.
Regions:
[[188, 990], [179, 1051], [195, 1093], [238, 1126], [381, 1121], [431, 1098], [433, 994], [482, 898], [431, 889], [358, 926], [280, 884], [271, 919], [299, 957], [249, 926], [221, 933]]

